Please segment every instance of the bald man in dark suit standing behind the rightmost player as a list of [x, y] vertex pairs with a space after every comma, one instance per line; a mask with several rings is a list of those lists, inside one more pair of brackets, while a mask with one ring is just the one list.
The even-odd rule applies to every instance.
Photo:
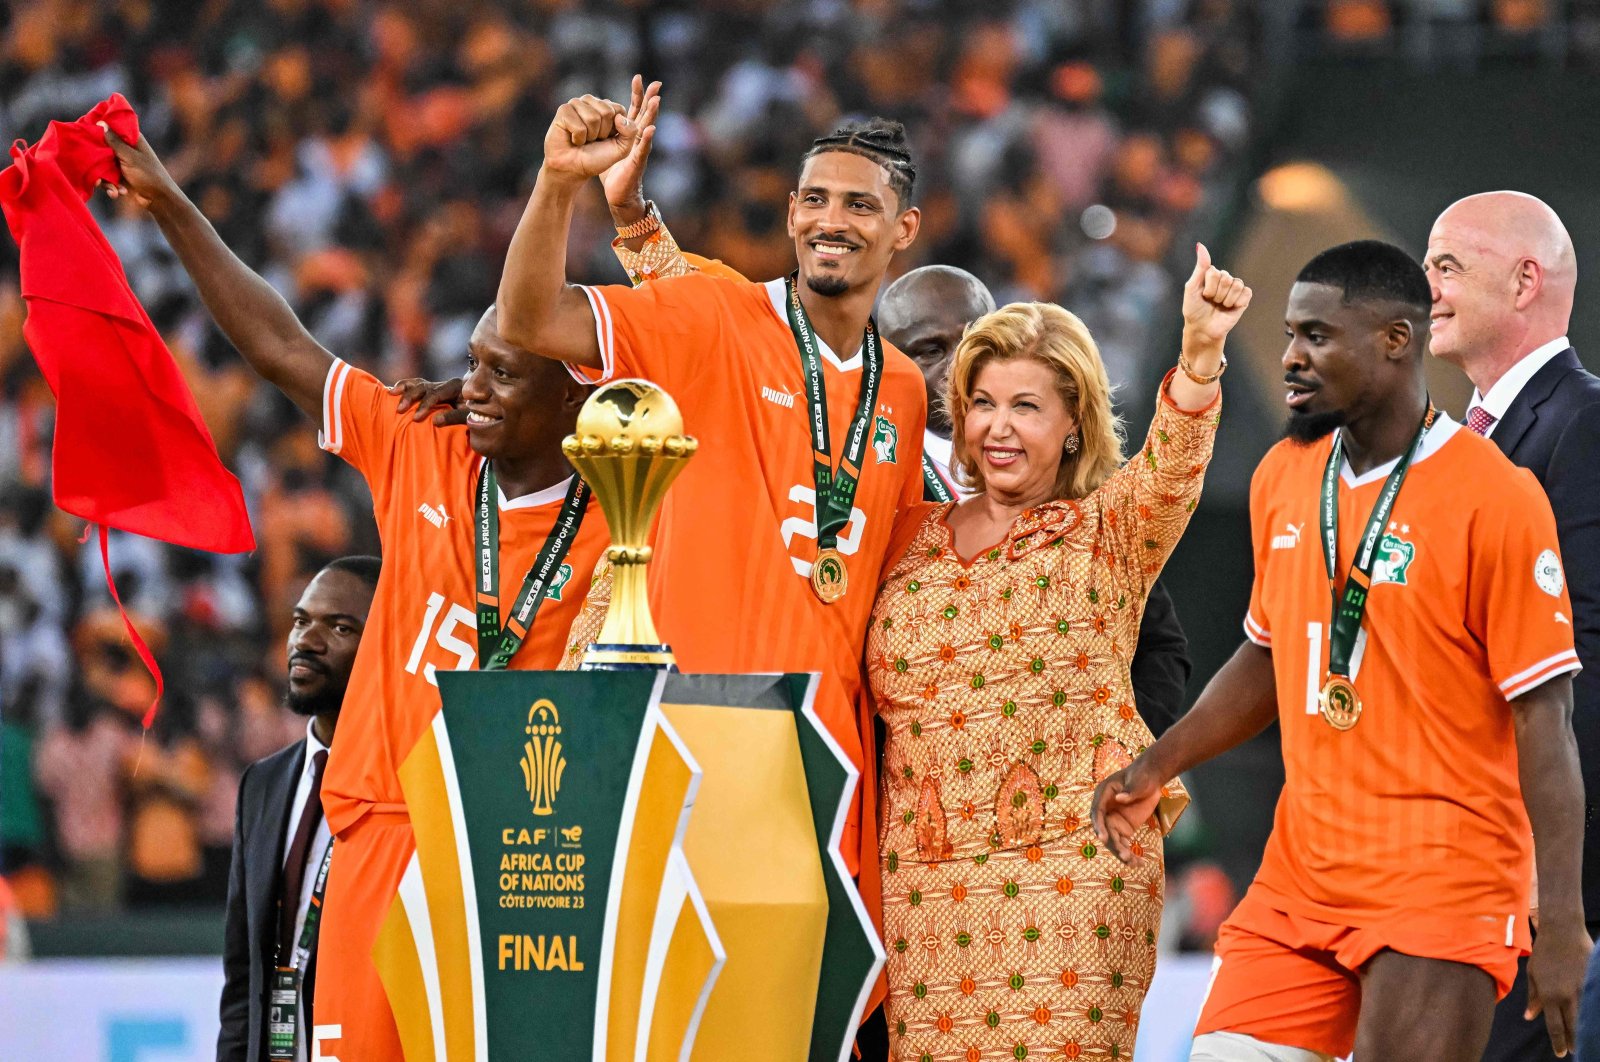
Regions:
[[[1582, 763], [1584, 928], [1541, 924], [1582, 947], [1600, 929], [1600, 377], [1578, 363], [1566, 325], [1578, 288], [1573, 242], [1547, 205], [1522, 192], [1470, 195], [1450, 206], [1427, 240], [1434, 286], [1430, 349], [1472, 381], [1467, 427], [1486, 435], [1544, 485], [1555, 512], [1562, 557], [1541, 557], [1528, 577], [1560, 590], [1568, 582], [1573, 638], [1584, 670], [1573, 678], [1573, 731]], [[1565, 566], [1565, 571], [1563, 571]], [[1554, 1059], [1539, 1011], [1539, 969], [1522, 963], [1510, 995], [1501, 1000], [1485, 1062]], [[1590, 968], [1590, 982], [1597, 971]], [[1581, 1027], [1597, 1025], [1586, 987]], [[1571, 1033], [1571, 1030], [1568, 1030]], [[1600, 1028], [1592, 1030], [1600, 1032]], [[1579, 1057], [1600, 1059], [1579, 1041]]]

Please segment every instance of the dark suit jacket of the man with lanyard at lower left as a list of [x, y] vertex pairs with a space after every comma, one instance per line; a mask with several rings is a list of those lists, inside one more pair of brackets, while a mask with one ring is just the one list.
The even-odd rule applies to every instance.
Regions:
[[[283, 888], [283, 846], [288, 819], [306, 765], [306, 739], [256, 760], [238, 782], [234, 822], [234, 862], [227, 878], [227, 934], [222, 945], [222, 1032], [218, 1062], [258, 1062], [267, 1057], [267, 990], [277, 936], [277, 899]], [[317, 953], [306, 969], [306, 998], [317, 984]], [[310, 1028], [307, 1004], [301, 1027]]]

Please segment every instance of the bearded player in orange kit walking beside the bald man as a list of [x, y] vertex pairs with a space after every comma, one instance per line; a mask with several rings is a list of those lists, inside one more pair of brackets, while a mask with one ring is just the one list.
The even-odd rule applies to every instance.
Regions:
[[1194, 1059], [1475, 1060], [1539, 936], [1565, 1054], [1589, 937], [1571, 606], [1538, 481], [1427, 400], [1429, 285], [1378, 242], [1290, 293], [1286, 437], [1251, 485], [1246, 641], [1094, 793], [1123, 860], [1162, 782], [1278, 720], [1286, 782], [1222, 928]]

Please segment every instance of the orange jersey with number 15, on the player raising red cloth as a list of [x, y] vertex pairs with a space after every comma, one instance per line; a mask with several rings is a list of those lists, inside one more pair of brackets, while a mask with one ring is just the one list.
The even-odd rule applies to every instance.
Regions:
[[[373, 804], [403, 803], [395, 771], [438, 710], [435, 670], [478, 665], [474, 489], [482, 457], [472, 453], [466, 430], [416, 424], [395, 413], [397, 403], [370, 373], [344, 361], [328, 371], [320, 441], [366, 478], [384, 547], [382, 576], [322, 785], [334, 833]], [[562, 481], [536, 494], [499, 497], [502, 622], [555, 526], [566, 488]], [[605, 515], [590, 497], [555, 589], [510, 667], [560, 664], [589, 574], [610, 542]]]

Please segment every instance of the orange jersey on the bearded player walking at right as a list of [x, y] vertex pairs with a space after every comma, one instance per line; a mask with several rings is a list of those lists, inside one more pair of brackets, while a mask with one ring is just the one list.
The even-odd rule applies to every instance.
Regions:
[[[1382, 528], [1352, 659], [1362, 715], [1341, 733], [1317, 699], [1331, 446], [1282, 441], [1251, 483], [1245, 633], [1272, 651], [1286, 774], [1251, 892], [1325, 923], [1526, 948], [1533, 833], [1507, 701], [1578, 670], [1549, 501], [1491, 441], [1435, 421]], [[1341, 590], [1392, 467], [1342, 470]]]

